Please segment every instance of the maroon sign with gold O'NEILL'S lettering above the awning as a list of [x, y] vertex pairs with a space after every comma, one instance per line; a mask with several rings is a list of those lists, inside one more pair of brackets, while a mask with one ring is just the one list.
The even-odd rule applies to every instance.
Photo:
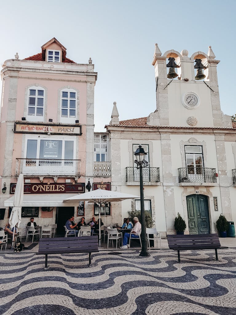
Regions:
[[[16, 183], [11, 183], [10, 194], [15, 193]], [[31, 183], [24, 184], [25, 194], [63, 194], [68, 192], [82, 193], [84, 192], [84, 183], [68, 184], [68, 183]]]

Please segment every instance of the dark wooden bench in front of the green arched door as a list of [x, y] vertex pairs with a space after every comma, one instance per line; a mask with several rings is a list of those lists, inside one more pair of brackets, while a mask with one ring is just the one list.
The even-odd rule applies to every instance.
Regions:
[[221, 246], [217, 234], [167, 235], [167, 240], [169, 248], [177, 250], [178, 262], [180, 262], [180, 250], [215, 249], [216, 260], [218, 260], [217, 249], [228, 248]]

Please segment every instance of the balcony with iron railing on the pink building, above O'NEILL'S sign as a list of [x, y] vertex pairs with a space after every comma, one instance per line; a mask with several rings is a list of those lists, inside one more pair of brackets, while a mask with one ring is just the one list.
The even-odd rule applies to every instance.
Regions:
[[16, 159], [16, 175], [80, 176], [81, 160]]

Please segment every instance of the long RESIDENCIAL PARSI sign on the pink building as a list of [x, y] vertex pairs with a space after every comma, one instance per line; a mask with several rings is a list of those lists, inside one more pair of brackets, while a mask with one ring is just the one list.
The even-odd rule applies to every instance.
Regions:
[[82, 135], [81, 125], [49, 124], [49, 123], [15, 123], [14, 133]]

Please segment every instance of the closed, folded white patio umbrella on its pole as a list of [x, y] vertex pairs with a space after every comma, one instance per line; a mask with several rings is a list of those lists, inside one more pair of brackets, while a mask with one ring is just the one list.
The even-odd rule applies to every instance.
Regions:
[[12, 237], [12, 247], [14, 243], [13, 240], [14, 240], [14, 235], [15, 235], [15, 226], [17, 224], [17, 226], [20, 227], [21, 205], [23, 202], [23, 196], [24, 196], [24, 176], [23, 174], [20, 174], [16, 183], [16, 187], [15, 187], [13, 208], [12, 208], [12, 212], [9, 219], [9, 224], [11, 228], [14, 227], [13, 237]]

